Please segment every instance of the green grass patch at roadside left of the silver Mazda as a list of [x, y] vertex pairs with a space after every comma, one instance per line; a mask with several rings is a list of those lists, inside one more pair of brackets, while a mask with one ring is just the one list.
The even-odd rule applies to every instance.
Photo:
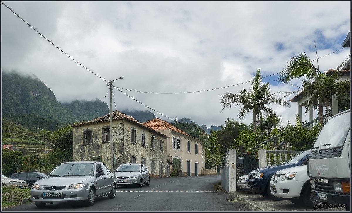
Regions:
[[31, 203], [31, 188], [1, 187], [1, 208]]

